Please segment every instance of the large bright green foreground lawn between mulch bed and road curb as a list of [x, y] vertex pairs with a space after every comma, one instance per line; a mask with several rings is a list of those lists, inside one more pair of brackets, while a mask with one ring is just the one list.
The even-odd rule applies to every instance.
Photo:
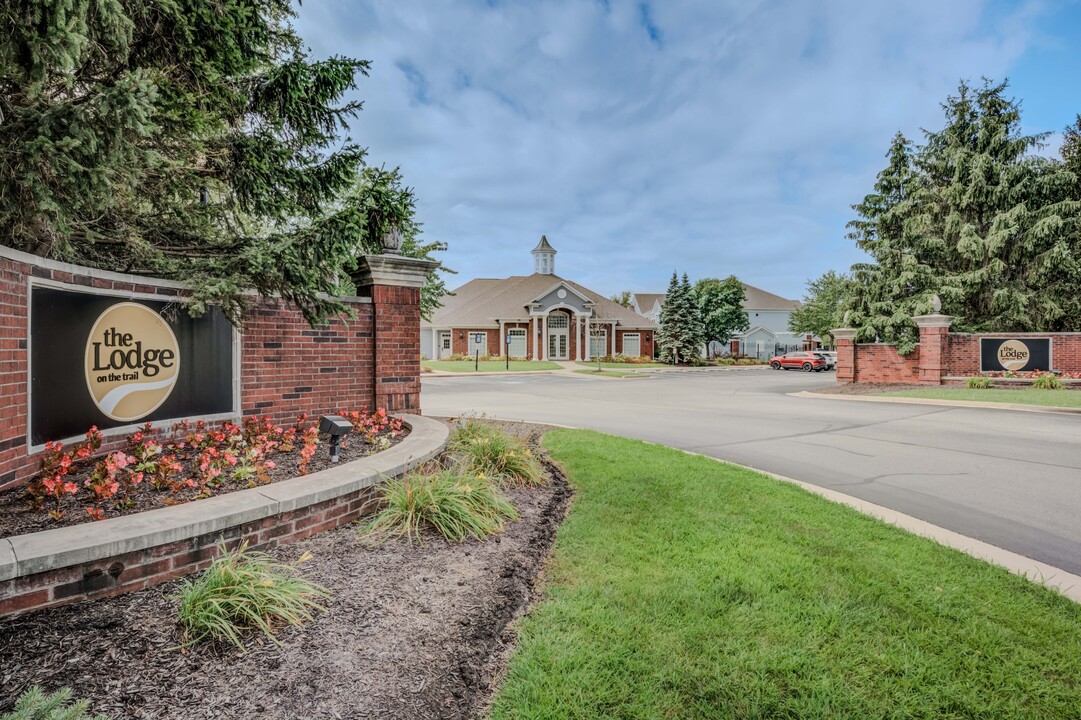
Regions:
[[796, 485], [591, 431], [502, 718], [1078, 718], [1081, 605]]

